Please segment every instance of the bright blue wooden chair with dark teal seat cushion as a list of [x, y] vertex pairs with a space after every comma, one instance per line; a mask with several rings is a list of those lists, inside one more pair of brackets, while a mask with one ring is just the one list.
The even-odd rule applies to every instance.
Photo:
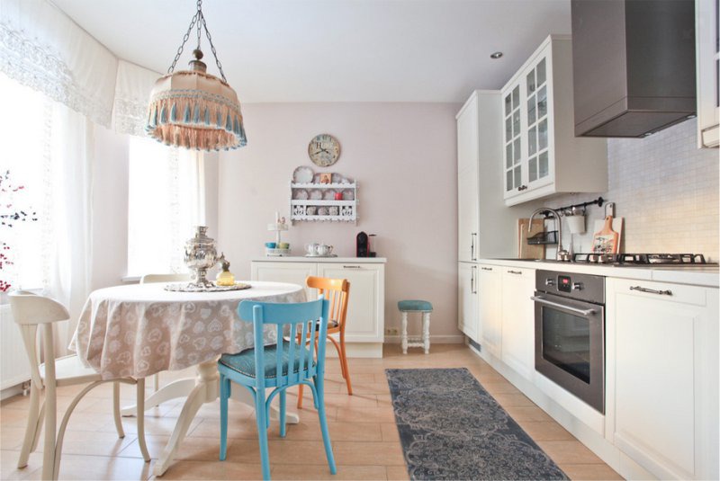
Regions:
[[[298, 304], [272, 304], [244, 300], [238, 306], [238, 316], [252, 321], [255, 347], [238, 354], [222, 354], [220, 371], [220, 460], [228, 451], [228, 397], [230, 381], [247, 387], [255, 398], [257, 435], [263, 479], [270, 479], [270, 460], [267, 452], [267, 429], [270, 426], [269, 408], [280, 395], [280, 436], [285, 436], [285, 390], [299, 384], [312, 389], [312, 398], [320, 418], [320, 431], [325, 444], [330, 473], [336, 474], [328, 421], [325, 418], [323, 376], [325, 374], [325, 343], [328, 333], [329, 300], [320, 297]], [[317, 320], [320, 319], [320, 322]], [[278, 343], [263, 345], [265, 325], [275, 325]], [[289, 330], [285, 327], [290, 325]], [[298, 330], [298, 325], [301, 325]], [[284, 339], [283, 334], [289, 334]], [[316, 337], [317, 336], [317, 337]], [[299, 339], [317, 339], [318, 343], [299, 343]], [[280, 346], [278, 348], [278, 346]], [[317, 352], [313, 352], [316, 350]], [[261, 373], [258, 375], [257, 373]], [[311, 382], [312, 379], [312, 382]], [[275, 387], [266, 397], [266, 387]]]

